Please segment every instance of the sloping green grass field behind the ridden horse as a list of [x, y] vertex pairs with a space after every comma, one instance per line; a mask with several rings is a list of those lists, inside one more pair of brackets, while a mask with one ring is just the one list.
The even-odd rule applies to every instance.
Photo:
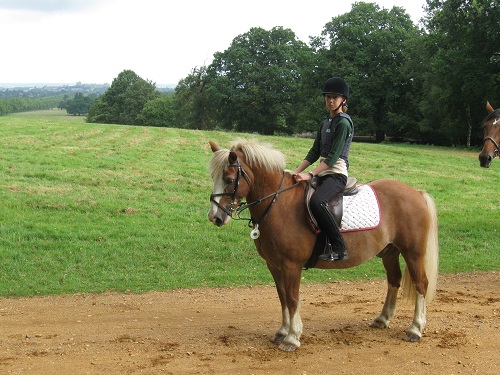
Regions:
[[[246, 223], [206, 217], [212, 182], [208, 141], [241, 136], [86, 124], [63, 111], [0, 117], [0, 295], [143, 292], [270, 284]], [[311, 140], [272, 143], [292, 169]], [[478, 151], [361, 144], [350, 173], [393, 178], [434, 198], [440, 272], [500, 269], [500, 160]], [[308, 270], [304, 282], [383, 277], [379, 259], [341, 271]]]

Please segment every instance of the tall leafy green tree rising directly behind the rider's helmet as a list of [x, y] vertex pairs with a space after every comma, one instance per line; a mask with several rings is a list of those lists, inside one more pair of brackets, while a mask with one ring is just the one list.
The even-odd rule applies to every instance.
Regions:
[[351, 87], [357, 134], [383, 139], [386, 132], [405, 134], [404, 125], [412, 124], [412, 118], [405, 116], [412, 89], [404, 69], [405, 52], [419, 37], [403, 8], [386, 10], [358, 2], [349, 13], [327, 23], [321, 37], [313, 40], [317, 53], [324, 56], [322, 76], [341, 76]]

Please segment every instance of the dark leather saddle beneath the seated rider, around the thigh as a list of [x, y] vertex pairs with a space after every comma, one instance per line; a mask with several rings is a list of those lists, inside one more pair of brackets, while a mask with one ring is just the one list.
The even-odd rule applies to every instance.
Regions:
[[[356, 195], [358, 193], [358, 186], [356, 185], [357, 179], [354, 177], [348, 177], [347, 178], [347, 183], [343, 191], [338, 193], [337, 195], [333, 196], [329, 201], [328, 201], [328, 209], [330, 210], [330, 213], [332, 214], [332, 217], [335, 219], [335, 222], [340, 228], [340, 223], [342, 222], [342, 215], [344, 211], [344, 196], [350, 196], [350, 195]], [[311, 230], [318, 234], [320, 232], [318, 223], [316, 222], [316, 219], [314, 218], [313, 213], [311, 212], [311, 207], [309, 205], [309, 202], [311, 200], [311, 196], [314, 194], [314, 191], [316, 190], [316, 187], [318, 185], [318, 178], [314, 177], [309, 184], [307, 184], [306, 192], [305, 192], [305, 203], [306, 203], [306, 211], [307, 211], [307, 221], [309, 223], [309, 226], [311, 227]]]

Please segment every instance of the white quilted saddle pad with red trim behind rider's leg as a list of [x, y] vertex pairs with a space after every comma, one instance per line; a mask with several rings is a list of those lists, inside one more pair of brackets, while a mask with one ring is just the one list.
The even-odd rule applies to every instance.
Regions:
[[341, 232], [374, 229], [380, 224], [380, 207], [375, 191], [368, 185], [360, 185], [358, 189], [358, 194], [344, 197]]

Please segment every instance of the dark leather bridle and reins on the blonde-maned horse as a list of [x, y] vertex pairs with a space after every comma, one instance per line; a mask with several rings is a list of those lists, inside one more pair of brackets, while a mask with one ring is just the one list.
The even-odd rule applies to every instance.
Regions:
[[[255, 200], [255, 201], [251, 202], [251, 203], [246, 203], [246, 202], [242, 202], [241, 201], [242, 197], [238, 196], [238, 188], [239, 188], [239, 184], [240, 184], [240, 180], [241, 180], [242, 176], [247, 181], [247, 183], [249, 185], [251, 184], [250, 177], [248, 176], [248, 173], [245, 172], [245, 170], [241, 166], [239, 160], [236, 160], [235, 163], [229, 164], [228, 167], [236, 167], [236, 168], [238, 168], [238, 174], [236, 176], [236, 182], [235, 182], [235, 186], [234, 186], [234, 191], [233, 192], [226, 192], [226, 193], [217, 193], [217, 194], [213, 194], [212, 193], [212, 194], [210, 194], [210, 202], [213, 202], [217, 207], [219, 207], [222, 211], [224, 211], [227, 215], [229, 215], [234, 220], [248, 220], [248, 226], [249, 227], [252, 227], [252, 226], [255, 226], [255, 225], [258, 226], [258, 224], [262, 220], [265, 220], [267, 218], [267, 216], [269, 215], [269, 212], [271, 211], [271, 208], [273, 207], [274, 203], [276, 202], [276, 199], [278, 199], [278, 195], [280, 193], [282, 193], [284, 191], [287, 191], [287, 190], [290, 190], [290, 189], [296, 187], [299, 184], [299, 182], [296, 182], [295, 184], [293, 184], [291, 186], [283, 188], [283, 183], [285, 182], [285, 172], [283, 171], [283, 177], [281, 179], [280, 187], [279, 187], [279, 189], [277, 191], [275, 191], [274, 193], [268, 194], [265, 197], [259, 198], [259, 199]], [[232, 200], [232, 204], [229, 207], [229, 209], [226, 208], [226, 207], [224, 207], [224, 206], [222, 206], [219, 202], [217, 202], [215, 200], [215, 198], [226, 197], [226, 196], [230, 196], [231, 200]], [[257, 204], [259, 204], [259, 203], [261, 203], [261, 202], [263, 202], [263, 201], [265, 201], [266, 199], [269, 199], [269, 198], [273, 198], [273, 200], [267, 206], [266, 210], [261, 215], [261, 217], [259, 218], [259, 220], [254, 220], [252, 218], [242, 218], [242, 217], [240, 217], [240, 214], [244, 210], [250, 208], [251, 206], [257, 205]], [[236, 214], [236, 217], [233, 217], [233, 213]]]

